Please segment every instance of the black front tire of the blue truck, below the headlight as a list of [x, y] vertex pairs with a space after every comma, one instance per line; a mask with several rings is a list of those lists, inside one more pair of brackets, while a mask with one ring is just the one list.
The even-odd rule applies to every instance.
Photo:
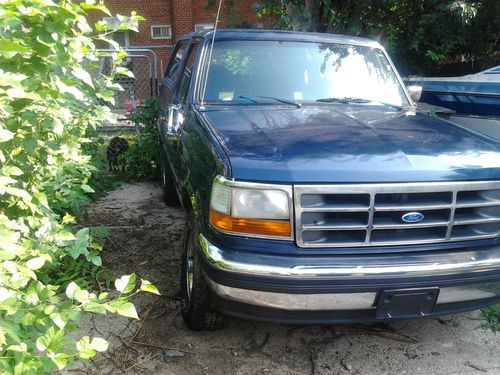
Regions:
[[[192, 271], [190, 275], [188, 268]], [[189, 277], [192, 280], [191, 288], [188, 286]], [[189, 221], [182, 251], [181, 313], [186, 326], [194, 331], [214, 331], [224, 325], [224, 315], [217, 312], [210, 301], [209, 286], [201, 271], [193, 226]]]

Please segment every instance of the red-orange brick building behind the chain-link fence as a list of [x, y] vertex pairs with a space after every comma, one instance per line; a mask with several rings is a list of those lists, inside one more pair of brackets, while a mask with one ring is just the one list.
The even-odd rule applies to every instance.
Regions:
[[[136, 11], [145, 18], [138, 32], [119, 31], [113, 35], [128, 50], [127, 67], [135, 79], [122, 78], [123, 91], [115, 95], [117, 108], [127, 107], [132, 98], [144, 100], [155, 95], [168, 59], [177, 39], [189, 32], [214, 27], [219, 0], [105, 0], [113, 18]], [[256, 0], [223, 0], [219, 27], [260, 28], [252, 5]], [[89, 21], [95, 23], [107, 18], [103, 13], [91, 12]], [[99, 45], [100, 48], [110, 46]], [[107, 61], [99, 72], [106, 72]], [[100, 73], [99, 73], [100, 74]]]

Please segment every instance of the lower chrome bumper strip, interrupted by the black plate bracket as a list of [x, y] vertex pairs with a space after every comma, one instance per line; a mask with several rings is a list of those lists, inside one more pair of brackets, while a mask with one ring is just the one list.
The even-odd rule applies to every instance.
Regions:
[[[210, 288], [220, 297], [245, 304], [280, 310], [333, 311], [333, 310], [375, 310], [377, 292], [364, 293], [317, 293], [290, 294], [263, 292], [229, 287], [206, 278]], [[472, 287], [441, 288], [437, 304], [473, 301], [500, 296], [500, 282], [492, 291], [481, 290], [481, 285]]]

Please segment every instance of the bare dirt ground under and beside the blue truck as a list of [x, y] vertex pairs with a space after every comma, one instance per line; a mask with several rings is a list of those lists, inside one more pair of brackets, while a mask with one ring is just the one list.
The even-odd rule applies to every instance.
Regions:
[[112, 232], [105, 268], [136, 272], [162, 295], [136, 298], [141, 321], [86, 321], [80, 333], [112, 345], [72, 374], [500, 374], [500, 336], [482, 328], [479, 312], [372, 327], [229, 318], [221, 331], [191, 332], [179, 307], [183, 212], [163, 204], [157, 185], [136, 183], [95, 202], [89, 215], [88, 224]]

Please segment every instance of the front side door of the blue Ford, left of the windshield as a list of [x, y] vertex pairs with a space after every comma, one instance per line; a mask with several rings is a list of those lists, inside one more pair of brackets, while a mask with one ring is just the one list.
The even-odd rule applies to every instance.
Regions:
[[189, 88], [191, 85], [191, 77], [193, 68], [196, 62], [199, 43], [193, 41], [188, 49], [186, 63], [183, 66], [179, 77], [177, 89], [173, 95], [172, 105], [169, 108], [168, 128], [170, 129], [167, 136], [167, 152], [170, 159], [172, 172], [177, 181], [185, 177], [184, 171], [184, 143], [187, 137], [185, 128], [187, 123], [192, 121], [189, 116]]

